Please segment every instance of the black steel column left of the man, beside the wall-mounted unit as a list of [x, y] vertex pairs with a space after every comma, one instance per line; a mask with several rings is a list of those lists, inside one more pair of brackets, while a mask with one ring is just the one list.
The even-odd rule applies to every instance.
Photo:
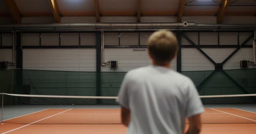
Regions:
[[96, 96], [101, 96], [101, 32], [96, 32]]

